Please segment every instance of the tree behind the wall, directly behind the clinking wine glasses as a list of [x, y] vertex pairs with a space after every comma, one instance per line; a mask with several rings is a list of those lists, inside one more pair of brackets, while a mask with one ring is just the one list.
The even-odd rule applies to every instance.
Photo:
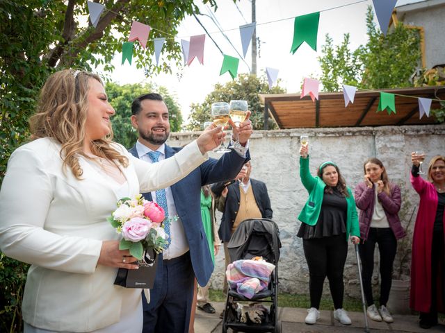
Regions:
[[[214, 85], [213, 92], [208, 94], [204, 102], [191, 105], [190, 123], [187, 130], [202, 130], [204, 121], [211, 121], [211, 104], [231, 99], [244, 99], [248, 101], [249, 110], [252, 111], [250, 120], [255, 130], [264, 128], [264, 106], [259, 101], [258, 94], [280, 94], [286, 92], [282, 87], [275, 86], [269, 89], [266, 76], [257, 77], [250, 74], [240, 74], [235, 80], [220, 85]], [[269, 128], [276, 128], [276, 124], [269, 119]]]

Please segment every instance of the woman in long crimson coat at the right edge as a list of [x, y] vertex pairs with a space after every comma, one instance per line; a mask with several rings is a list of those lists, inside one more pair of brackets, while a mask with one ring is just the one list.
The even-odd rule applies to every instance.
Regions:
[[419, 176], [423, 155], [412, 153], [411, 184], [420, 196], [412, 239], [410, 307], [420, 311], [420, 327], [437, 325], [445, 313], [445, 156], [432, 157], [428, 180]]

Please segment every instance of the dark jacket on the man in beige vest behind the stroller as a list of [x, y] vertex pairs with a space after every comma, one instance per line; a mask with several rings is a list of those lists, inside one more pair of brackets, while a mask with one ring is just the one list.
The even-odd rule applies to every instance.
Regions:
[[[270, 207], [270, 199], [267, 193], [266, 184], [259, 180], [250, 178], [250, 185], [252, 186], [255, 201], [258, 205], [259, 211], [261, 212], [261, 217], [263, 217], [264, 219], [272, 219], [273, 211]], [[220, 196], [223, 188], [224, 187], [222, 187], [221, 184], [217, 183], [212, 185], [211, 190], [217, 196]], [[236, 214], [238, 214], [240, 205], [238, 182], [232, 183], [232, 185], [229, 185], [227, 189], [229, 191], [227, 192], [224, 210], [220, 209], [222, 207], [218, 207], [218, 210], [223, 212], [223, 218], [221, 219], [220, 228], [218, 230], [220, 239], [223, 242], [228, 242], [230, 240], [230, 237], [232, 237], [232, 226], [234, 225]]]

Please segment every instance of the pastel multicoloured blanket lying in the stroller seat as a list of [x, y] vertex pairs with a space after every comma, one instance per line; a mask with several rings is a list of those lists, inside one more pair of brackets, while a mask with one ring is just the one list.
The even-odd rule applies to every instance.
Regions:
[[252, 298], [255, 293], [267, 288], [274, 269], [274, 264], [265, 261], [236, 260], [227, 266], [225, 275], [230, 289], [236, 289], [237, 293]]

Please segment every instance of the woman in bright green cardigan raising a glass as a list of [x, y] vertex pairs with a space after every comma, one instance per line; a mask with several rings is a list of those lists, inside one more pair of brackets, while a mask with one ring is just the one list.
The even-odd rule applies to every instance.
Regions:
[[359, 221], [353, 193], [346, 187], [334, 162], [322, 163], [317, 176], [311, 175], [307, 144], [300, 147], [300, 178], [309, 192], [309, 199], [298, 215], [302, 223], [297, 234], [303, 239], [309, 267], [311, 307], [307, 310], [305, 323], [314, 324], [320, 318], [318, 308], [327, 276], [334, 301], [334, 318], [343, 325], [350, 325], [350, 318], [343, 309], [343, 268], [349, 237], [354, 244], [359, 243]]

